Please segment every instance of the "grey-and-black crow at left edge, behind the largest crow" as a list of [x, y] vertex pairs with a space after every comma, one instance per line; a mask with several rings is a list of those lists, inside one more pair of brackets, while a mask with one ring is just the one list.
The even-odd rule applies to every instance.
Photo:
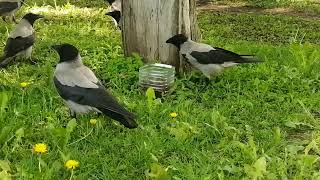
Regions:
[[43, 18], [43, 16], [28, 13], [11, 31], [4, 47], [3, 56], [0, 57], [0, 67], [7, 66], [11, 59], [17, 57], [31, 58], [32, 46], [35, 42], [33, 24], [39, 18]]

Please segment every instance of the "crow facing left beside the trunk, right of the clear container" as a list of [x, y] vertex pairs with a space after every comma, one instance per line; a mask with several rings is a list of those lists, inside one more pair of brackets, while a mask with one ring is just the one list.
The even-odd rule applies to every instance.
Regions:
[[222, 48], [194, 42], [183, 34], [171, 37], [166, 43], [175, 45], [187, 62], [209, 79], [227, 67], [261, 62], [252, 55], [239, 55]]

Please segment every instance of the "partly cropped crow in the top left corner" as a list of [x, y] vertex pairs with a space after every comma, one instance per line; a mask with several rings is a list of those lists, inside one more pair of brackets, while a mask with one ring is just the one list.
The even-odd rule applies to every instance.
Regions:
[[16, 22], [14, 14], [23, 5], [24, 0], [0, 0], [0, 16], [6, 21], [7, 16], [12, 16], [12, 20]]

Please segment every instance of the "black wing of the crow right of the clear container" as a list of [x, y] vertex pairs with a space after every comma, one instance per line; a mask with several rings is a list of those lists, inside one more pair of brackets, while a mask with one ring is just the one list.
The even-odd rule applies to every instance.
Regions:
[[208, 52], [197, 52], [193, 51], [190, 54], [192, 57], [197, 59], [200, 64], [223, 64], [225, 62], [241, 63], [243, 58], [234, 52], [216, 48]]

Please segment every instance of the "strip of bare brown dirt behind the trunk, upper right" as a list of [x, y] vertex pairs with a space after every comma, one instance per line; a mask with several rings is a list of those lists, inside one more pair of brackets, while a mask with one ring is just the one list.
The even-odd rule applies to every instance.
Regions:
[[200, 11], [216, 11], [216, 12], [238, 12], [238, 13], [255, 13], [255, 14], [284, 14], [288, 16], [299, 16], [304, 18], [320, 19], [320, 14], [297, 12], [292, 8], [256, 8], [242, 5], [216, 5], [216, 4], [200, 4]]

